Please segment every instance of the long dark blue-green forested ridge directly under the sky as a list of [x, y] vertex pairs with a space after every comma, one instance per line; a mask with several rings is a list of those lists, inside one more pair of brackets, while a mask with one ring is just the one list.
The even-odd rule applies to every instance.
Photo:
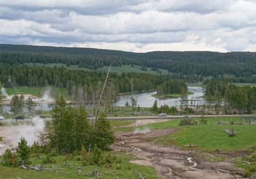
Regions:
[[0, 63], [65, 63], [80, 68], [98, 69], [104, 65], [140, 65], [165, 69], [185, 76], [231, 75], [255, 82], [254, 52], [148, 52], [132, 53], [91, 48], [42, 47], [0, 44]]

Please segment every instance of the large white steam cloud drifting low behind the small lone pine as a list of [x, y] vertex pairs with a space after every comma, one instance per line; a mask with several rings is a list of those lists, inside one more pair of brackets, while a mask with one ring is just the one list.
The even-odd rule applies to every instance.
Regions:
[[0, 142], [0, 155], [7, 148], [15, 150], [22, 136], [28, 141], [28, 145], [30, 146], [34, 142], [40, 142], [40, 135], [44, 131], [45, 122], [39, 117], [34, 117], [31, 120], [31, 124], [0, 127], [0, 136], [4, 137], [4, 141]]

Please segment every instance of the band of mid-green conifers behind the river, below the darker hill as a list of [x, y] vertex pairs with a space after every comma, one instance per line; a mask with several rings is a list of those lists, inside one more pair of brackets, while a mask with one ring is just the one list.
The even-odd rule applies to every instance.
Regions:
[[[47, 86], [65, 87], [71, 92], [73, 86], [91, 87], [105, 80], [106, 73], [96, 71], [68, 70], [66, 68], [47, 68], [44, 66], [4, 65], [0, 63], [0, 81], [6, 87], [20, 86]], [[149, 91], [172, 80], [160, 75], [146, 73], [111, 73], [113, 79], [112, 90], [118, 93], [131, 92], [131, 79], [134, 91]], [[110, 81], [109, 81], [110, 82]], [[177, 82], [177, 83], [176, 83]], [[179, 81], [175, 81], [179, 87]], [[184, 83], [184, 82], [183, 82]], [[184, 83], [185, 84], [185, 83]]]

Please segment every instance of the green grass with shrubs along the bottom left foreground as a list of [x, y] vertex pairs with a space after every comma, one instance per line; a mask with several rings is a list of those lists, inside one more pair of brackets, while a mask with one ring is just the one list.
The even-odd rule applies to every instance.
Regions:
[[[100, 178], [138, 178], [138, 173], [141, 173], [143, 176], [149, 179], [156, 179], [160, 178], [156, 176], [156, 171], [152, 167], [141, 166], [137, 164], [132, 164], [129, 161], [133, 159], [133, 157], [129, 154], [125, 154], [124, 152], [110, 152], [111, 154], [117, 155], [118, 158], [121, 160], [121, 163], [113, 163], [111, 168], [106, 168], [105, 165], [103, 166], [82, 166], [81, 162], [77, 160], [77, 156], [74, 158], [69, 157], [68, 163], [71, 164], [70, 167], [64, 166], [66, 163], [66, 156], [58, 155], [54, 156], [53, 158], [57, 160], [56, 164], [45, 164], [45, 167], [51, 168], [54, 166], [55, 168], [59, 166], [59, 171], [64, 173], [57, 173], [55, 170], [54, 172], [48, 171], [41, 171], [37, 172], [35, 170], [25, 170], [19, 168], [11, 168], [11, 167], [4, 167], [0, 165], [0, 178], [5, 179], [16, 179], [17, 177], [20, 178], [40, 178], [40, 179], [49, 179], [49, 178], [95, 178], [92, 175], [92, 172], [97, 169], [100, 173], [103, 174]], [[45, 156], [42, 155], [42, 158]], [[66, 158], [66, 159], [65, 159]], [[42, 159], [33, 158], [32, 165], [38, 165], [42, 163]], [[77, 169], [75, 164], [81, 166], [81, 173], [78, 175]], [[66, 173], [67, 172], [67, 173]]]

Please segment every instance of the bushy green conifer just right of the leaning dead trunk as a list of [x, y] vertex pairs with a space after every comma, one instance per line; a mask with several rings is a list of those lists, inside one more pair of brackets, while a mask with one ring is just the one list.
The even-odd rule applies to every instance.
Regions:
[[110, 145], [115, 142], [114, 132], [105, 114], [100, 114], [96, 121], [91, 141], [93, 146], [96, 145], [102, 150], [109, 149]]

